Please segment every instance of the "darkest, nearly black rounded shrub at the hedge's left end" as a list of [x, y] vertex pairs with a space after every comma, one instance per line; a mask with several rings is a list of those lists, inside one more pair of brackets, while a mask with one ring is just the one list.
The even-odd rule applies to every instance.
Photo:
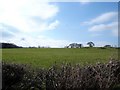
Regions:
[[14, 90], [13, 85], [19, 83], [24, 76], [24, 69], [18, 64], [2, 63], [3, 90]]

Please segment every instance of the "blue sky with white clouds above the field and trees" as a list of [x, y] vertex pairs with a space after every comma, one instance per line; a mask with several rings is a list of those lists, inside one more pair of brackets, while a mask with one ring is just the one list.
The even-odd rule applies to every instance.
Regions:
[[23, 47], [118, 46], [118, 3], [0, 0], [0, 34]]

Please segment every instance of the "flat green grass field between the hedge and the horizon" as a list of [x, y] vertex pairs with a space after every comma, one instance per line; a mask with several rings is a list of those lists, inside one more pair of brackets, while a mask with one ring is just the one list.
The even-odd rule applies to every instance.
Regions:
[[12, 63], [30, 64], [33, 67], [49, 67], [54, 63], [70, 62], [81, 65], [107, 62], [117, 58], [115, 48], [18, 48], [2, 49], [2, 60]]

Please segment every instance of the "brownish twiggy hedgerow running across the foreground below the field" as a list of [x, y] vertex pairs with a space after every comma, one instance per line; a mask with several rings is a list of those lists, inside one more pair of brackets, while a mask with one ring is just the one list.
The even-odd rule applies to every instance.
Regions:
[[120, 89], [120, 61], [84, 67], [69, 63], [36, 70], [3, 62], [2, 79], [3, 90], [115, 90]]

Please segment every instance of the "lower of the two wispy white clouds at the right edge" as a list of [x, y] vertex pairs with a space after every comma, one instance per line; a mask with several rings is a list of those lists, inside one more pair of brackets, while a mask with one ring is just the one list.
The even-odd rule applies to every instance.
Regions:
[[112, 31], [113, 35], [118, 36], [118, 22], [112, 22], [110, 24], [98, 24], [92, 26], [89, 31], [91, 32], [98, 32], [98, 31], [105, 31], [110, 30]]

